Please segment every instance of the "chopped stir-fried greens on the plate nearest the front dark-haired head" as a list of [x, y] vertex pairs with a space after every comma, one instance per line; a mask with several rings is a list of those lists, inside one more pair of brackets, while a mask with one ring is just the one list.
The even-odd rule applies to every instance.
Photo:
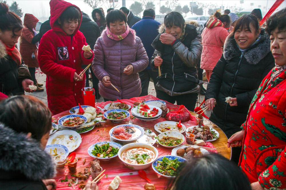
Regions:
[[178, 161], [177, 158], [174, 160], [169, 160], [168, 158], [164, 157], [162, 161], [157, 161], [160, 163], [155, 168], [158, 172], [162, 173], [163, 175], [168, 176], [176, 176], [176, 169], [180, 166], [181, 162]]

